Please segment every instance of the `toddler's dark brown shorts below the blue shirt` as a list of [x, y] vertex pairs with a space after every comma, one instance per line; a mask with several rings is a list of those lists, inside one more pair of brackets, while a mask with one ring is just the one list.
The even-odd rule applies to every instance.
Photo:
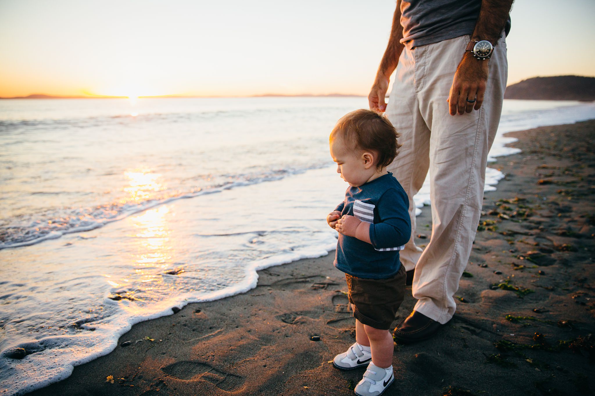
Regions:
[[378, 330], [390, 330], [397, 309], [405, 298], [407, 273], [401, 264], [390, 278], [369, 279], [345, 274], [347, 297], [355, 305], [353, 317]]

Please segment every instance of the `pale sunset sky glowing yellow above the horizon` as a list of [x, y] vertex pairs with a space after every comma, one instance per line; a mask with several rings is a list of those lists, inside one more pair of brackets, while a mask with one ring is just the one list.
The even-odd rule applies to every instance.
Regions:
[[[0, 0], [0, 97], [367, 95], [394, 0]], [[508, 83], [595, 75], [595, 1], [518, 0]]]

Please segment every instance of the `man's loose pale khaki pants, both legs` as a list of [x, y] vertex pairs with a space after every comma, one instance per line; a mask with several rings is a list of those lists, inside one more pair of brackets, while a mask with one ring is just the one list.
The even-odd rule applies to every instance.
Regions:
[[[506, 88], [506, 43], [500, 39], [489, 62], [483, 106], [449, 114], [450, 85], [469, 36], [414, 49], [399, 58], [386, 115], [403, 147], [388, 167], [409, 195], [412, 237], [400, 252], [406, 270], [415, 268], [415, 311], [441, 324], [455, 313], [454, 295], [467, 265], [480, 219], [487, 154], [494, 141]], [[485, 61], [477, 61], [485, 62]], [[430, 171], [431, 241], [415, 245], [417, 194]]]

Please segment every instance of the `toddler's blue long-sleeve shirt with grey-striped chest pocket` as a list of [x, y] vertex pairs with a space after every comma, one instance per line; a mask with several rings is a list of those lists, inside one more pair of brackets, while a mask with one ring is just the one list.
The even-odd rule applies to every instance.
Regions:
[[339, 233], [334, 266], [358, 278], [390, 278], [399, 271], [399, 250], [411, 237], [409, 198], [392, 172], [349, 187], [335, 210], [370, 224], [371, 244]]

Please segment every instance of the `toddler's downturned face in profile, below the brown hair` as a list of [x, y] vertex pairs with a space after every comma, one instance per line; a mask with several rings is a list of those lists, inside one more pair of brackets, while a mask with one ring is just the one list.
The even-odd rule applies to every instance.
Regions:
[[330, 142], [331, 157], [337, 163], [337, 173], [350, 186], [359, 187], [374, 174], [374, 167], [367, 166], [364, 156], [358, 150], [349, 150], [337, 137]]

